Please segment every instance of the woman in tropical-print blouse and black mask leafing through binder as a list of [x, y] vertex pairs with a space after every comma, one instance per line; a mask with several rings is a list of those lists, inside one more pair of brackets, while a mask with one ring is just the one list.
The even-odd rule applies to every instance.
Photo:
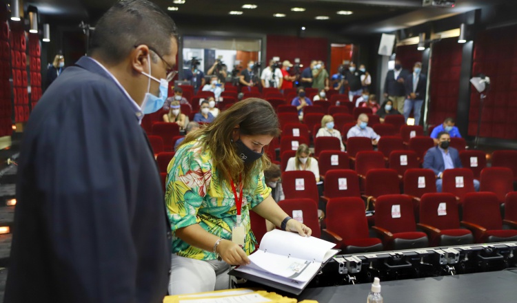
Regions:
[[280, 134], [274, 108], [247, 98], [190, 132], [168, 167], [165, 205], [174, 232], [169, 293], [227, 289], [230, 265], [250, 264], [250, 211], [283, 230], [310, 236], [271, 196], [264, 147]]

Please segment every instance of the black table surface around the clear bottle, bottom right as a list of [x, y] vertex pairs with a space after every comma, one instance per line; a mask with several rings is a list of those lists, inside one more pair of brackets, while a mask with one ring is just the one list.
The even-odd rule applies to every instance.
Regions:
[[[372, 284], [305, 289], [298, 300], [319, 303], [366, 302]], [[381, 281], [384, 302], [517, 302], [517, 270]]]

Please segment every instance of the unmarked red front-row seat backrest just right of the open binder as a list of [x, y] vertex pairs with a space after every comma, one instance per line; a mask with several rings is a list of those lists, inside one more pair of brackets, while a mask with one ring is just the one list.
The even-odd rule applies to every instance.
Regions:
[[327, 229], [343, 240], [369, 238], [363, 200], [358, 197], [330, 199], [327, 202]]

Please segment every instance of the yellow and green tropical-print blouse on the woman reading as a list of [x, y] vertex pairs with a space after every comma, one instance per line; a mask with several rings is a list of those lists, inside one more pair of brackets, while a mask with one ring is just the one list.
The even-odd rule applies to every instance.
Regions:
[[[231, 185], [222, 180], [216, 167], [212, 167], [210, 150], [192, 141], [181, 146], [167, 168], [165, 205], [172, 231], [199, 224], [205, 231], [221, 238], [232, 240], [232, 227], [236, 221], [235, 198]], [[245, 252], [254, 251], [256, 239], [250, 229], [250, 209], [259, 205], [271, 189], [265, 186], [262, 169], [254, 174], [252, 185], [244, 189], [241, 211], [246, 230]], [[240, 186], [236, 184], [236, 187]], [[212, 251], [192, 247], [175, 235], [172, 238], [172, 253], [198, 260], [214, 260]]]

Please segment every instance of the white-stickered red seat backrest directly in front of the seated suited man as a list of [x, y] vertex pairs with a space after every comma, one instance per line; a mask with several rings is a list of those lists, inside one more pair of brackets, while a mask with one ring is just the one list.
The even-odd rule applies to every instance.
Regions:
[[475, 191], [474, 174], [470, 169], [445, 169], [442, 179], [442, 191], [458, 196], [460, 201], [463, 201], [467, 193]]

